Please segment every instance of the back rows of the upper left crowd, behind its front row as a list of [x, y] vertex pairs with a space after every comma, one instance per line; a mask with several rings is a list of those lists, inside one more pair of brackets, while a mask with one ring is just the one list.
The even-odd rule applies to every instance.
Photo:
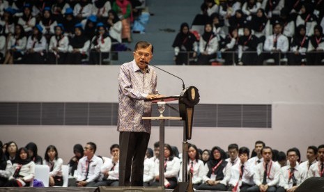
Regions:
[[[13, 33], [13, 24], [22, 24], [26, 33], [32, 33], [33, 26], [40, 24], [45, 31], [43, 33], [53, 35], [54, 26], [61, 23], [67, 30], [67, 33], [74, 32], [75, 24], [91, 19], [92, 24], [88, 25], [88, 33], [93, 33], [93, 26], [97, 22], [109, 24], [114, 23], [109, 19], [109, 11], [114, 10], [116, 18], [121, 20], [119, 31], [125, 40], [131, 41], [130, 24], [133, 21], [133, 15], [139, 11], [136, 8], [140, 6], [139, 0], [49, 0], [49, 1], [2, 1], [0, 5], [0, 24], [6, 26], [5, 33]], [[92, 38], [92, 37], [89, 37]]]

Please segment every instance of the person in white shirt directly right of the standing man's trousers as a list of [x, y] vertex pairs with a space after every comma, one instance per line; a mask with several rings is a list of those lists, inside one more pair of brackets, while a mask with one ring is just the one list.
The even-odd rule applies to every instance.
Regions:
[[153, 161], [153, 150], [148, 148], [144, 159], [143, 186], [150, 186], [154, 179], [155, 163]]

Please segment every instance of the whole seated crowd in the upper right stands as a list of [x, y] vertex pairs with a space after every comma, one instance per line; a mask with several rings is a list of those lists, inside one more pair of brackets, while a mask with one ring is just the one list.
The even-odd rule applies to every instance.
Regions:
[[323, 65], [324, 1], [204, 0], [173, 47], [177, 65]]

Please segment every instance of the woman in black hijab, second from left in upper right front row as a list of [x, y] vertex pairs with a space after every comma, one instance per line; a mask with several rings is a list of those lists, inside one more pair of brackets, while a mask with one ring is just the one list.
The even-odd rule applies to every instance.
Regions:
[[218, 39], [213, 33], [213, 25], [208, 23], [205, 25], [205, 31], [199, 40], [198, 65], [210, 65], [210, 59], [216, 58], [218, 50]]

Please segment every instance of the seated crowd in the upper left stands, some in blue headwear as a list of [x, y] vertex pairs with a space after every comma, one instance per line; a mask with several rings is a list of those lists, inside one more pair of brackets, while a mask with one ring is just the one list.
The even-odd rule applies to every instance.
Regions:
[[3, 64], [101, 64], [128, 49], [139, 0], [1, 0]]

